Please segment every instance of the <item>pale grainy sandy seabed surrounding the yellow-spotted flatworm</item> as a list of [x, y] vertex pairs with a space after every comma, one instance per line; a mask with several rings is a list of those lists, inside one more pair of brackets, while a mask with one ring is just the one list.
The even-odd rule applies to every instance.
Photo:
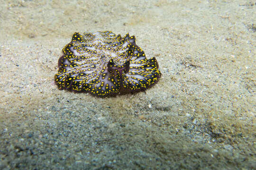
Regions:
[[[256, 168], [256, 3], [0, 0], [0, 169]], [[135, 35], [146, 92], [58, 90], [74, 32]]]

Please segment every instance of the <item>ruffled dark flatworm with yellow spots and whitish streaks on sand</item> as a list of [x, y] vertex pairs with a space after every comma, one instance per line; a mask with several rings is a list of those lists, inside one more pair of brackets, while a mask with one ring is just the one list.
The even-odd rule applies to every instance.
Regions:
[[111, 31], [74, 33], [59, 58], [56, 84], [60, 90], [99, 97], [146, 90], [161, 73], [155, 57], [146, 59], [135, 42], [135, 36]]

